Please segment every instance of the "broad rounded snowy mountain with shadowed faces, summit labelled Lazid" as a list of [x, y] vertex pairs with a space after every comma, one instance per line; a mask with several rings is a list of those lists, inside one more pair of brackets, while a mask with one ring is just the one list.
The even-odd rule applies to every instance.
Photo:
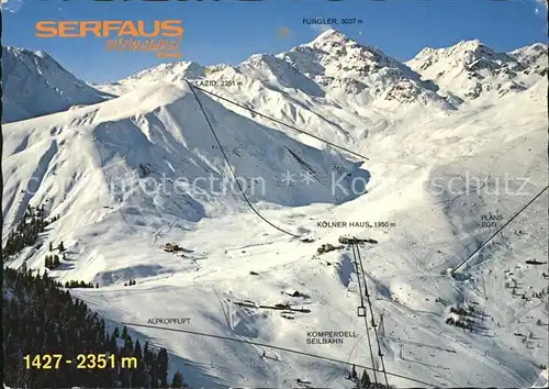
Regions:
[[[199, 98], [250, 201], [301, 207], [340, 203], [363, 192], [369, 174], [360, 163], [300, 144], [206, 95]], [[5, 220], [20, 218], [29, 203], [46, 203], [53, 214], [79, 215], [59, 223], [63, 234], [90, 225], [116, 233], [116, 220], [123, 222], [119, 233], [148, 233], [248, 210], [188, 87], [154, 87], [7, 124], [2, 164]], [[302, 177], [306, 185], [293, 184]], [[361, 179], [357, 194], [349, 177]]]

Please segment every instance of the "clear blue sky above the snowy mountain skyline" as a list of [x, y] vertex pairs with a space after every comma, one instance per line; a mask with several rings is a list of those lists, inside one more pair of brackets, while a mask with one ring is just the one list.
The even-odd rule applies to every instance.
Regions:
[[[3, 44], [44, 49], [92, 82], [117, 80], [166, 59], [152, 53], [108, 52], [105, 38], [38, 38], [34, 36], [37, 21], [180, 19], [184, 27], [182, 59], [202, 65], [238, 64], [251, 54], [279, 53], [306, 43], [320, 29], [304, 25], [304, 18], [361, 19], [361, 25], [339, 25], [337, 30], [400, 60], [410, 59], [425, 46], [445, 47], [460, 40], [479, 38], [496, 51], [547, 43], [547, 9], [536, 0], [8, 0], [3, 5]], [[281, 27], [289, 29], [290, 35], [281, 38]]]

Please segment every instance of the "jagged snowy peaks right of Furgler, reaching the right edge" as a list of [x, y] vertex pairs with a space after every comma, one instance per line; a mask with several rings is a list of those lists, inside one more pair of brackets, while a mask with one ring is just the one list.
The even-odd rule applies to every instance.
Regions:
[[426, 47], [406, 64], [462, 99], [486, 101], [547, 77], [547, 45], [496, 53], [479, 40], [461, 41], [448, 48]]

